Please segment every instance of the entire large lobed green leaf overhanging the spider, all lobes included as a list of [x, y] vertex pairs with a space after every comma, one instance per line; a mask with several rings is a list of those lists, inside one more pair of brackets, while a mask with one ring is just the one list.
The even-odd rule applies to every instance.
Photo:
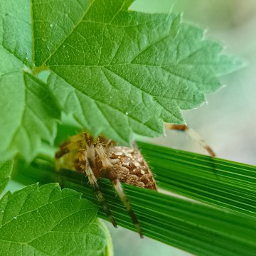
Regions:
[[[58, 105], [95, 136], [159, 136], [240, 66], [180, 16], [128, 11], [131, 3], [1, 1], [1, 160], [31, 161], [41, 140], [53, 142]], [[47, 69], [46, 84], [36, 75]]]

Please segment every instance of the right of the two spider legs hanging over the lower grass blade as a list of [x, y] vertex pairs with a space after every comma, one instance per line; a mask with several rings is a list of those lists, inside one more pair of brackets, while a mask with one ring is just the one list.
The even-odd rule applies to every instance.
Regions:
[[117, 177], [116, 172], [113, 169], [113, 166], [110, 162], [109, 157], [107, 156], [105, 149], [102, 147], [101, 144], [97, 144], [95, 146], [95, 150], [97, 152], [97, 155], [99, 156], [100, 161], [102, 162], [102, 178], [108, 178], [110, 181], [112, 181], [114, 185], [114, 189], [117, 192], [117, 195], [119, 196], [120, 200], [124, 204], [127, 212], [129, 213], [132, 223], [134, 223], [135, 227], [137, 228], [137, 232], [139, 233], [139, 236], [141, 238], [143, 237], [142, 228], [139, 225], [139, 221], [132, 210], [132, 206], [130, 205], [127, 197], [124, 194], [122, 184], [119, 181], [119, 178]]

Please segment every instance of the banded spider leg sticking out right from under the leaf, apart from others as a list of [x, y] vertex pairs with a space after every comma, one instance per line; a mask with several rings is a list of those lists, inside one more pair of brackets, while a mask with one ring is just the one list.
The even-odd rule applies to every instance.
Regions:
[[210, 156], [216, 156], [213, 149], [210, 148], [208, 144], [206, 144], [205, 140], [193, 129], [187, 127], [186, 125], [178, 125], [178, 124], [165, 124], [166, 129], [176, 129], [178, 131], [186, 132], [192, 139], [196, 140], [198, 144], [200, 144]]

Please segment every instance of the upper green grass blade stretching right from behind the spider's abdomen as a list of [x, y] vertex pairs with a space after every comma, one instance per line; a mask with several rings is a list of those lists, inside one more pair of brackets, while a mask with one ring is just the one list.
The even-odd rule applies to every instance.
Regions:
[[138, 142], [159, 186], [213, 206], [256, 216], [256, 167]]

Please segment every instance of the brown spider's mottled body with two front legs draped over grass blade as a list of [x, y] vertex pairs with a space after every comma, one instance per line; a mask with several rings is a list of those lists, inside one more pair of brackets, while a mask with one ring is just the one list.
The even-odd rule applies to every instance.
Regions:
[[60, 169], [60, 158], [63, 158], [61, 164], [63, 168], [80, 171], [87, 175], [100, 205], [114, 227], [117, 227], [116, 220], [97, 183], [97, 178], [100, 177], [110, 179], [137, 232], [143, 238], [142, 228], [120, 183], [157, 190], [156, 181], [139, 150], [116, 146], [115, 142], [102, 136], [93, 139], [89, 134], [82, 132], [60, 145], [60, 150], [55, 154], [57, 169]]

